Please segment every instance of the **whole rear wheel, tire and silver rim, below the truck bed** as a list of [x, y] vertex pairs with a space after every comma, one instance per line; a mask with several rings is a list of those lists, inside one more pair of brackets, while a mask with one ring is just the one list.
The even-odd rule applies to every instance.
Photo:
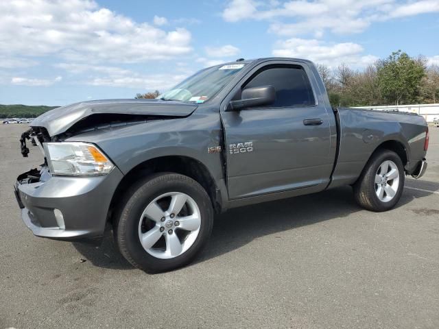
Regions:
[[398, 154], [387, 149], [377, 151], [353, 186], [355, 200], [368, 210], [390, 210], [401, 198], [404, 179], [403, 162]]

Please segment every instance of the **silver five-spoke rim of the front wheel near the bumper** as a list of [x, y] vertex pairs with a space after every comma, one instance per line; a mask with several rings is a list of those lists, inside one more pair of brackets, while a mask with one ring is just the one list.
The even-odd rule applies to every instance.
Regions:
[[151, 256], [175, 258], [193, 245], [200, 227], [200, 208], [189, 195], [165, 193], [143, 210], [139, 219], [139, 240]]

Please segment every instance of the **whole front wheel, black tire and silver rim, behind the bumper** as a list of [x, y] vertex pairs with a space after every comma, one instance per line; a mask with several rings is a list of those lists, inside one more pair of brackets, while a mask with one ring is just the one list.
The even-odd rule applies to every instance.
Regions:
[[135, 267], [161, 272], [187, 265], [209, 239], [209, 195], [185, 175], [152, 175], [127, 192], [115, 223], [121, 254]]

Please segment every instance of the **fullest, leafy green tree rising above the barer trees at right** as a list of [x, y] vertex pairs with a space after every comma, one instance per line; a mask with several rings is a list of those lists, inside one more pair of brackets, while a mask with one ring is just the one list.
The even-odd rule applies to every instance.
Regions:
[[378, 85], [388, 103], [411, 103], [420, 95], [420, 83], [425, 76], [425, 62], [410, 58], [407, 53], [395, 51], [377, 62]]

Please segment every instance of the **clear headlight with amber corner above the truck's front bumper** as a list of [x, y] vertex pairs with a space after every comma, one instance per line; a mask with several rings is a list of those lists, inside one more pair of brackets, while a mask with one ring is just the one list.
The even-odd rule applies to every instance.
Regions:
[[114, 164], [91, 143], [44, 143], [53, 175], [105, 175]]

